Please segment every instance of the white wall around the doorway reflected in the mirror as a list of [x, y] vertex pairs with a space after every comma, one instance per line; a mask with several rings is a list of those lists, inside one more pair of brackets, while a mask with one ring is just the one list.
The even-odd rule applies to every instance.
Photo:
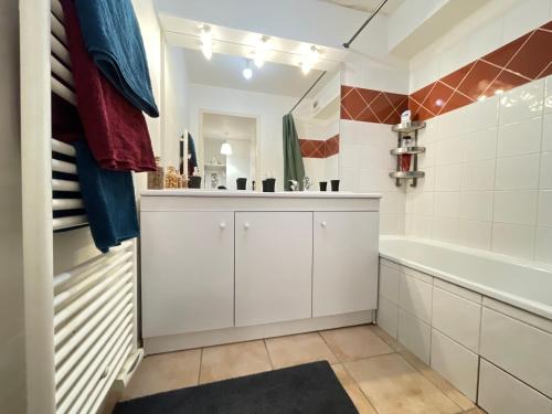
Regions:
[[[200, 137], [201, 110], [257, 117], [257, 173], [263, 179], [272, 173], [277, 189], [283, 189], [284, 156], [282, 140], [283, 116], [296, 98], [229, 89], [215, 86], [190, 85], [190, 131], [195, 141]], [[198, 145], [199, 162], [203, 163], [202, 145]]]

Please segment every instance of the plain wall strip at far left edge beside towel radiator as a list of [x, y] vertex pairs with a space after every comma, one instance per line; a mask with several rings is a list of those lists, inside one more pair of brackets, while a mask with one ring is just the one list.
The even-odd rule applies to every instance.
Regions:
[[19, 11], [0, 3], [0, 407], [24, 413], [25, 341], [21, 222]]

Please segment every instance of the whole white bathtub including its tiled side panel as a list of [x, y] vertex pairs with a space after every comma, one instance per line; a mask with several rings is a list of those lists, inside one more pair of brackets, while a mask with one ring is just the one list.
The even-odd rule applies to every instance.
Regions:
[[552, 413], [552, 266], [380, 240], [376, 322], [489, 414]]

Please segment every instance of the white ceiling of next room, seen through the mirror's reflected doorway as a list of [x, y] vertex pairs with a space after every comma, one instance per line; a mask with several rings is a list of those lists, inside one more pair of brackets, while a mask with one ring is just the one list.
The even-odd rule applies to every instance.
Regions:
[[203, 137], [215, 140], [252, 140], [256, 119], [233, 115], [203, 114]]

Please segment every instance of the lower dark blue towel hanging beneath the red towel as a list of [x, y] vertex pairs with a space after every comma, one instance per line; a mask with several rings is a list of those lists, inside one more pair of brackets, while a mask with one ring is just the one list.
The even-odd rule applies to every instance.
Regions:
[[85, 142], [74, 146], [81, 194], [96, 247], [106, 253], [109, 247], [138, 237], [140, 230], [131, 173], [104, 170]]

